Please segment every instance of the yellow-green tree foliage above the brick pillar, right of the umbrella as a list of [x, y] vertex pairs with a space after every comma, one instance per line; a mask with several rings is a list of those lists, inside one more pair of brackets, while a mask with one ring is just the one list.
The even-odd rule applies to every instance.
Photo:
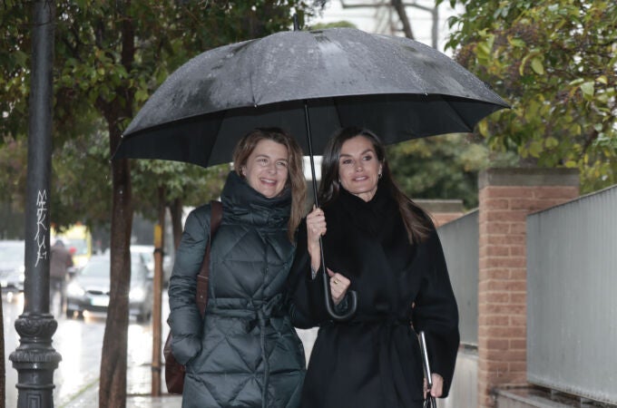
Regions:
[[[439, 2], [440, 3], [440, 2]], [[617, 4], [451, 0], [456, 59], [512, 103], [478, 130], [525, 163], [578, 168], [583, 192], [617, 182]]]

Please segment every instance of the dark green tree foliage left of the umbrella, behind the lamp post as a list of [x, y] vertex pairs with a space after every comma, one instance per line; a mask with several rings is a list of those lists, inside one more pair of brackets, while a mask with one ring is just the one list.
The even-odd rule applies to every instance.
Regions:
[[[301, 0], [108, 2], [60, 0], [54, 42], [52, 214], [58, 225], [111, 219], [113, 138], [182, 63], [222, 44], [288, 30], [291, 11], [312, 14]], [[0, 186], [24, 201], [32, 4], [0, 7]], [[134, 47], [127, 40], [134, 38]], [[10, 158], [5, 161], [4, 158]], [[18, 158], [22, 158], [19, 159]], [[8, 169], [8, 170], [5, 170]], [[198, 205], [216, 197], [226, 166], [132, 161], [134, 208], [156, 214], [165, 199]]]

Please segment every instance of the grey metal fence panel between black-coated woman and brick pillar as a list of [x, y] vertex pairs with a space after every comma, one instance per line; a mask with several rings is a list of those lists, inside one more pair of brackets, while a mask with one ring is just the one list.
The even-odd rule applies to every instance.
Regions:
[[458, 304], [461, 344], [478, 344], [478, 210], [437, 229]]

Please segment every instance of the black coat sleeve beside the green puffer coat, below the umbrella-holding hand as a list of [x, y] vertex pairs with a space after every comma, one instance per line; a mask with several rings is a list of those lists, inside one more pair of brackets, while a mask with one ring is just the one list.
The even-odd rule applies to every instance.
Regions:
[[307, 246], [307, 224], [302, 220], [298, 230], [298, 247], [287, 281], [289, 315], [293, 325], [310, 328], [328, 319], [324, 300], [323, 273], [311, 277]]

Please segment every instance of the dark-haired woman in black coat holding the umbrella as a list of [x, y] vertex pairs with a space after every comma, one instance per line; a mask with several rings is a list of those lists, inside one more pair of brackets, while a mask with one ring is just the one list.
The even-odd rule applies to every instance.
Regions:
[[[322, 161], [320, 209], [300, 225], [289, 277], [296, 324], [319, 325], [301, 406], [421, 407], [423, 367], [416, 332], [425, 331], [431, 393], [448, 393], [458, 349], [458, 311], [436, 229], [397, 189], [384, 147], [367, 130], [347, 128]], [[332, 321], [323, 300], [319, 237], [339, 311], [348, 289], [357, 313]]]

